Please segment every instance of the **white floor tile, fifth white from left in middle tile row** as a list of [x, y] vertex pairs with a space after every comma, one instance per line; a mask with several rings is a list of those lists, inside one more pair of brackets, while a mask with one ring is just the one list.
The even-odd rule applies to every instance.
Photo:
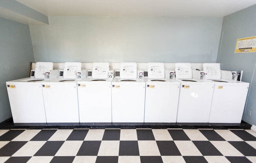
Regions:
[[182, 156], [202, 156], [192, 141], [174, 141]]

